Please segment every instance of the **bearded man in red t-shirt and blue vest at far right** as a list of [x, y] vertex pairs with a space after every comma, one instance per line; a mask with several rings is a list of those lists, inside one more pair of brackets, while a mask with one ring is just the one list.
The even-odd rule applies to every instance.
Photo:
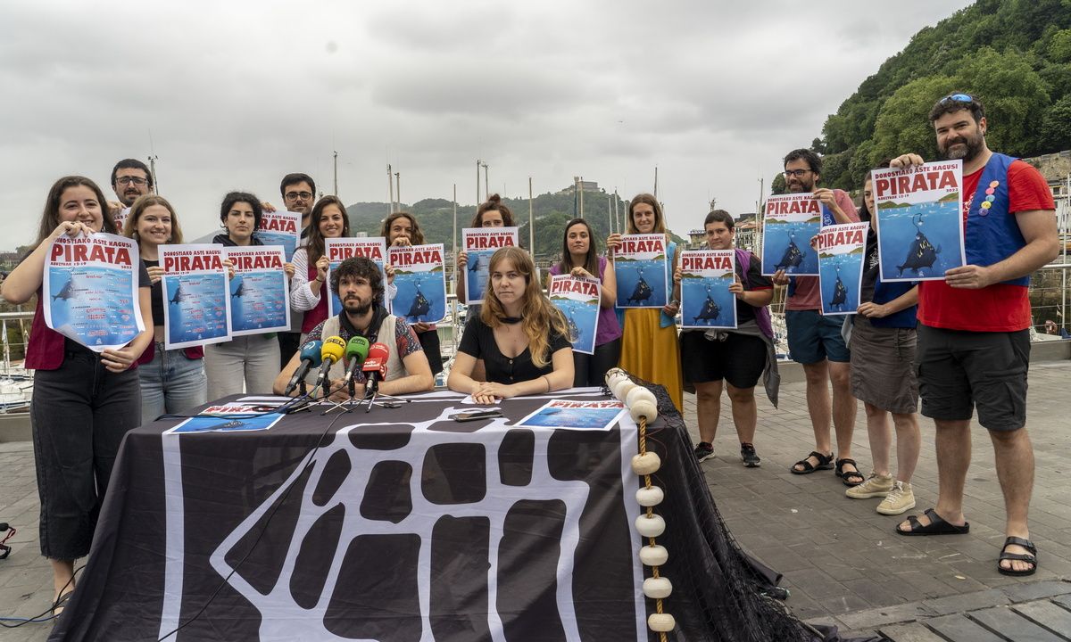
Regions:
[[[1044, 179], [1022, 160], [990, 151], [981, 103], [950, 94], [930, 111], [937, 149], [963, 159], [967, 265], [945, 280], [919, 285], [916, 367], [922, 414], [937, 427], [936, 508], [902, 522], [901, 535], [966, 533], [963, 490], [970, 465], [970, 418], [989, 430], [1007, 524], [997, 570], [1032, 575], [1037, 550], [1027, 511], [1034, 488], [1034, 448], [1026, 432], [1026, 372], [1030, 354], [1029, 275], [1056, 258], [1055, 203]], [[917, 154], [892, 167], [922, 164]], [[985, 177], [983, 179], [983, 177]], [[979, 186], [979, 182], [983, 181]]]

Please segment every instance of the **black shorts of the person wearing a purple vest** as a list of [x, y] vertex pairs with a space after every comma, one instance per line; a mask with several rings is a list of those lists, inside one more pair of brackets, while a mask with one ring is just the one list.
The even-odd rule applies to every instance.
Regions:
[[736, 388], [754, 387], [766, 366], [766, 342], [734, 332], [724, 341], [707, 339], [702, 330], [682, 332], [680, 365], [684, 381], [691, 383], [724, 379]]

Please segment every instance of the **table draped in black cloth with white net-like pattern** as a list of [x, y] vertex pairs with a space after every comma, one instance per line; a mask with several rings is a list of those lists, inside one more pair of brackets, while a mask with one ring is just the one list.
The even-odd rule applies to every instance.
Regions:
[[[768, 596], [779, 576], [729, 536], [680, 415], [652, 389], [668, 639], [823, 640]], [[635, 425], [512, 427], [550, 398], [605, 399], [508, 399], [503, 418], [457, 423], [473, 407], [440, 392], [263, 431], [133, 430], [50, 640], [180, 626], [168, 640], [658, 640], [633, 525]]]

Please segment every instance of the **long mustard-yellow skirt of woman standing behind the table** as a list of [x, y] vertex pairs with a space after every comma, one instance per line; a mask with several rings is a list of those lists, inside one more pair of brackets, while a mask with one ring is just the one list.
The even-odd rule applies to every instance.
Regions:
[[677, 326], [662, 327], [661, 319], [661, 310], [657, 308], [624, 310], [620, 367], [665, 386], [677, 411], [683, 413], [684, 378], [680, 372]]

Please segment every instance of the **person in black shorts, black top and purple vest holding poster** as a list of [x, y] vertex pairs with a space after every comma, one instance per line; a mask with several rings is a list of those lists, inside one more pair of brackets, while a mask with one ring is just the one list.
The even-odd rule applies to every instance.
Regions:
[[[776, 374], [776, 360], [773, 357], [773, 331], [770, 325], [770, 312], [766, 306], [773, 299], [773, 284], [763, 276], [758, 257], [746, 250], [734, 251], [736, 229], [733, 216], [724, 210], [714, 210], [707, 214], [703, 227], [707, 232], [707, 246], [712, 251], [696, 253], [699, 256], [713, 251], [729, 253], [721, 261], [730, 272], [725, 275], [730, 280], [728, 291], [734, 302], [735, 310], [728, 310], [724, 316], [734, 317], [731, 328], [723, 327], [703, 330], [702, 317], [713, 315], [709, 309], [713, 303], [707, 295], [707, 303], [699, 309], [697, 317], [691, 316], [692, 306], [684, 300], [684, 330], [680, 333], [681, 369], [684, 380], [695, 385], [696, 414], [699, 418], [699, 443], [695, 446], [695, 457], [699, 461], [714, 454], [714, 434], [718, 432], [718, 419], [722, 407], [722, 381], [726, 383], [729, 401], [733, 403], [733, 419], [736, 424], [737, 437], [740, 439], [740, 459], [748, 468], [759, 464], [755, 453], [755, 426], [758, 423], [758, 410], [755, 404], [755, 384], [764, 370]], [[693, 261], [691, 253], [681, 253], [681, 266], [674, 273], [674, 281], [680, 284], [687, 274], [698, 274], [708, 268], [706, 261]], [[698, 280], [698, 279], [696, 279]], [[684, 294], [687, 286], [681, 287]], [[714, 305], [713, 307], [718, 307]], [[729, 314], [735, 311], [735, 314]], [[694, 330], [698, 327], [698, 330]], [[774, 384], [776, 385], [776, 384]], [[767, 388], [769, 394], [769, 388]], [[776, 388], [770, 400], [776, 406]]]

